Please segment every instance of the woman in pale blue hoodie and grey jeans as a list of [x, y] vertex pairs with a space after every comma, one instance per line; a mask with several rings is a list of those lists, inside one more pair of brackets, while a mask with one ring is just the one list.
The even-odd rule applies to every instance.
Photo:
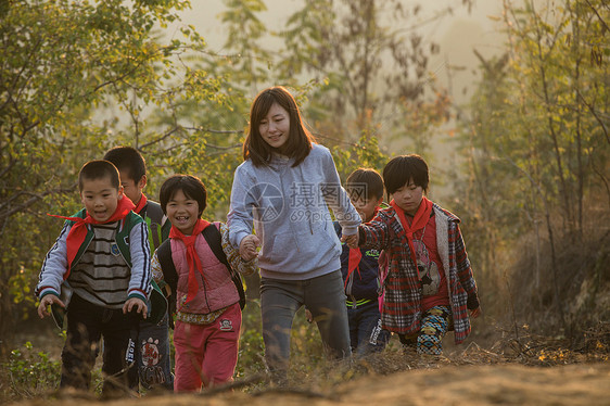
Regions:
[[344, 241], [356, 237], [360, 217], [329, 150], [314, 143], [283, 87], [263, 90], [252, 103], [243, 157], [227, 223], [241, 255], [258, 256], [265, 359], [281, 385], [287, 383], [292, 321], [302, 305], [317, 321], [328, 355], [351, 356], [341, 244], [328, 207]]

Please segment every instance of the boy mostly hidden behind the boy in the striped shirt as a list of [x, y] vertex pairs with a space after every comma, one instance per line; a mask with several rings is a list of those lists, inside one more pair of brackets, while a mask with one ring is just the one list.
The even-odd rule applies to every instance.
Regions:
[[[105, 153], [104, 160], [117, 167], [124, 193], [136, 204], [134, 212], [139, 214], [149, 226], [150, 249], [156, 250], [169, 236], [171, 223], [163, 214], [161, 205], [148, 200], [142, 193], [147, 186], [144, 157], [135, 148], [115, 147]], [[158, 325], [142, 320], [135, 334], [137, 335], [136, 368], [129, 370], [129, 386], [137, 390], [141, 382], [147, 390], [153, 385], [173, 390], [168, 315], [166, 314]]]

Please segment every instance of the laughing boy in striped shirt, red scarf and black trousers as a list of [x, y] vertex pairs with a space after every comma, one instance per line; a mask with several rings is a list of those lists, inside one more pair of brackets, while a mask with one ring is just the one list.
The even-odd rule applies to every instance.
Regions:
[[148, 228], [125, 199], [116, 167], [107, 161], [90, 161], [78, 174], [85, 208], [65, 218], [63, 229], [40, 271], [36, 294], [38, 315], [47, 307], [66, 305], [60, 300], [63, 281], [73, 294], [66, 309], [66, 342], [62, 351], [62, 388], [88, 390], [104, 339], [102, 394], [127, 384], [126, 351], [129, 331], [141, 314], [147, 317], [151, 290], [151, 253]]

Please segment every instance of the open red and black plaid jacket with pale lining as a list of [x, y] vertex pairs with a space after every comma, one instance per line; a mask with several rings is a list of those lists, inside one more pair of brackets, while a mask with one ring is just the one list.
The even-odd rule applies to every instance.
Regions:
[[[459, 218], [436, 204], [433, 210], [439, 256], [447, 276], [455, 342], [459, 344], [470, 333], [468, 309], [479, 307], [476, 282], [459, 230]], [[379, 211], [370, 223], [359, 226], [359, 233], [361, 248], [385, 250], [390, 256], [382, 327], [398, 334], [418, 333], [421, 283], [398, 215], [393, 207]]]

